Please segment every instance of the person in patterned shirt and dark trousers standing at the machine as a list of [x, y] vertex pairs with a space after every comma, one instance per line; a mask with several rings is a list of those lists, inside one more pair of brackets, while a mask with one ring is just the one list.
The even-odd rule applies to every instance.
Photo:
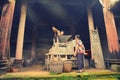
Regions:
[[80, 40], [80, 36], [75, 36], [76, 46], [75, 46], [75, 52], [74, 56], [77, 57], [77, 65], [78, 65], [78, 72], [84, 71], [84, 53], [85, 53], [85, 47]]

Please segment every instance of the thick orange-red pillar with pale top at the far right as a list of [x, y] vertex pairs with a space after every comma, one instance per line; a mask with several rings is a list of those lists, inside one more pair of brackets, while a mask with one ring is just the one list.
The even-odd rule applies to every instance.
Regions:
[[119, 52], [119, 42], [114, 21], [114, 15], [110, 11], [111, 0], [102, 0], [104, 21], [106, 27], [107, 41], [110, 53]]

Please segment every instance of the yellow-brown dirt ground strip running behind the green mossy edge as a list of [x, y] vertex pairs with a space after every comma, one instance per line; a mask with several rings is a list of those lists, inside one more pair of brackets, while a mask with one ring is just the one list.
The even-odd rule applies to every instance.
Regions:
[[46, 71], [44, 69], [44, 66], [40, 66], [40, 65], [34, 65], [32, 67], [27, 67], [27, 68], [23, 68], [21, 71], [19, 72], [10, 72], [10, 73], [6, 73], [0, 76], [0, 79], [4, 79], [4, 78], [52, 78], [52, 77], [60, 77], [60, 76], [86, 76], [86, 75], [120, 75], [120, 72], [114, 72], [108, 69], [85, 69], [84, 72], [82, 73], [77, 73], [76, 70], [72, 70], [69, 73], [61, 73], [61, 74], [51, 74], [49, 71]]

